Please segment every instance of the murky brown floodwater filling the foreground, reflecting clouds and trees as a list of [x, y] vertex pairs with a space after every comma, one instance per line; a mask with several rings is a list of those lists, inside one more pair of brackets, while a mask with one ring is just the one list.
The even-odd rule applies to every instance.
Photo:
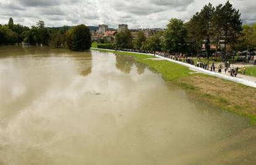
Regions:
[[256, 164], [256, 132], [131, 57], [2, 46], [0, 164]]

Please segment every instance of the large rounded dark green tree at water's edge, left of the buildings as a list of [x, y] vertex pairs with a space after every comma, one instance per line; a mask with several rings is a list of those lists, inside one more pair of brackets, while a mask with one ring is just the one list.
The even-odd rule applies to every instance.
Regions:
[[67, 32], [67, 47], [72, 51], [85, 51], [92, 45], [91, 33], [87, 26], [77, 25]]

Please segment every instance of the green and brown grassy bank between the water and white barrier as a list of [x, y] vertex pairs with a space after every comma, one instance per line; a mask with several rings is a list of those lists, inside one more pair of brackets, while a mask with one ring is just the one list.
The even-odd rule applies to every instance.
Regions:
[[[99, 49], [92, 49], [99, 51]], [[193, 72], [188, 67], [167, 60], [152, 60], [150, 58], [154, 58], [154, 56], [151, 55], [113, 50], [108, 52], [133, 56], [136, 61], [147, 64], [150, 69], [161, 74], [165, 80], [176, 83], [179, 87], [194, 93], [208, 103], [247, 117], [252, 125], [256, 124], [255, 88]]]

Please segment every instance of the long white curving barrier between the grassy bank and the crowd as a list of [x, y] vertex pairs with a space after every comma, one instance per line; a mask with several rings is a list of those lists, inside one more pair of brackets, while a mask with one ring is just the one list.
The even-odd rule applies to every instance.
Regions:
[[[116, 52], [116, 51], [111, 50], [111, 49], [100, 49], [100, 48], [91, 48], [91, 49], [92, 50], [103, 50], [103, 51]], [[243, 79], [243, 78], [231, 77], [229, 75], [224, 75], [224, 74], [219, 74], [219, 73], [216, 73], [216, 72], [211, 72], [210, 70], [205, 70], [205, 69], [202, 69], [200, 67], [192, 66], [191, 64], [187, 64], [187, 63], [181, 62], [181, 61], [175, 61], [173, 59], [169, 59], [169, 58], [166, 58], [166, 57], [162, 57], [162, 56], [158, 56], [158, 55], [154, 55], [154, 54], [150, 54], [150, 53], [137, 53], [137, 52], [129, 52], [129, 51], [119, 51], [119, 52], [127, 52], [127, 53], [136, 53], [136, 54], [145, 54], [145, 55], [155, 56], [155, 57], [158, 57], [160, 59], [165, 59], [167, 61], [171, 61], [171, 62], [174, 62], [176, 64], [180, 64], [182, 66], [189, 67], [190, 70], [194, 70], [194, 71], [200, 72], [202, 74], [207, 74], [207, 75], [211, 75], [211, 76], [214, 76], [214, 77], [223, 78], [223, 79], [229, 80], [231, 82], [241, 83], [243, 85], [247, 85], [249, 87], [256, 88], [256, 82], [246, 80], [246, 79]]]

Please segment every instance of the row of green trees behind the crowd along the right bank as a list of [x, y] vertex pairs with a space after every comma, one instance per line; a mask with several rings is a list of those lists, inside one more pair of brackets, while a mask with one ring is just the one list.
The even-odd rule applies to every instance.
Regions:
[[[208, 4], [184, 23], [183, 20], [173, 18], [169, 20], [166, 30], [145, 39], [143, 32], [139, 32], [137, 39], [132, 42], [129, 31], [123, 31], [116, 36], [119, 48], [135, 48], [148, 51], [166, 51], [169, 53], [194, 53], [202, 51], [205, 46], [208, 57], [211, 54], [210, 46], [215, 46], [215, 52], [223, 45], [223, 51], [237, 49], [246, 41], [251, 42], [245, 34], [254, 38], [255, 26], [244, 26], [240, 19], [239, 10], [234, 9], [228, 1], [213, 7]], [[255, 39], [254, 39], [255, 40]], [[132, 44], [133, 43], [133, 44]]]

